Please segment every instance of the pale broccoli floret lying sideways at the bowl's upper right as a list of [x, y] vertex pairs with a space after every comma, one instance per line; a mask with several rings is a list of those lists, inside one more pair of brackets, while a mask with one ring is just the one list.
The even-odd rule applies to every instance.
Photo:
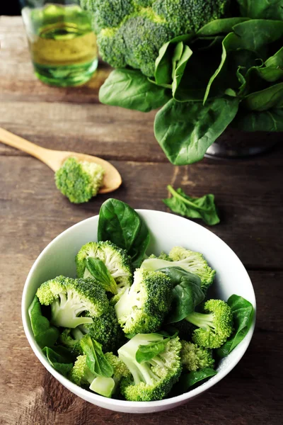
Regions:
[[202, 280], [202, 291], [204, 294], [212, 285], [216, 271], [212, 270], [199, 252], [190, 251], [182, 246], [175, 246], [169, 252], [171, 262], [161, 259], [146, 259], [141, 264], [141, 268], [146, 270], [158, 270], [166, 267], [181, 267], [186, 271], [195, 273]]

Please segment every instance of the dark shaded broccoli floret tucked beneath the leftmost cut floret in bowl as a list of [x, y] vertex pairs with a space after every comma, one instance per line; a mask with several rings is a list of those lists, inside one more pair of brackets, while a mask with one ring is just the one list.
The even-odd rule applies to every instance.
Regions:
[[124, 334], [118, 324], [114, 307], [110, 305], [101, 316], [92, 317], [92, 322], [89, 324], [80, 325], [75, 329], [64, 329], [59, 340], [74, 353], [81, 354], [80, 341], [86, 334], [98, 341], [104, 352], [116, 351], [120, 342], [123, 341]]

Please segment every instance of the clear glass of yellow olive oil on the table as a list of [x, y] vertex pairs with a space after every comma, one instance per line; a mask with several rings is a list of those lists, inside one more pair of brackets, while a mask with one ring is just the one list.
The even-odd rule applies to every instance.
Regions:
[[23, 21], [36, 76], [54, 86], [77, 86], [98, 66], [91, 16], [76, 4], [24, 7]]

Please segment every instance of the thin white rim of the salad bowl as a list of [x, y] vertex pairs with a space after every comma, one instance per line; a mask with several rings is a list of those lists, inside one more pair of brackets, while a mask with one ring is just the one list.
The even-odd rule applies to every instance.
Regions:
[[171, 216], [171, 217], [175, 217], [176, 220], [184, 220], [185, 222], [190, 221], [190, 225], [192, 225], [192, 227], [199, 229], [201, 232], [210, 233], [212, 235], [212, 237], [219, 239], [219, 241], [222, 244], [224, 244], [225, 249], [230, 251], [235, 256], [235, 260], [238, 261], [238, 265], [241, 266], [241, 268], [243, 268], [244, 272], [246, 272], [247, 283], [250, 284], [250, 287], [251, 287], [252, 292], [253, 292], [253, 300], [250, 300], [251, 304], [254, 307], [253, 323], [251, 324], [251, 327], [248, 331], [248, 334], [245, 336], [243, 341], [241, 341], [241, 343], [238, 345], [238, 347], [241, 346], [241, 351], [239, 351], [238, 356], [235, 359], [233, 359], [233, 361], [231, 361], [223, 370], [220, 370], [216, 375], [212, 376], [212, 378], [209, 378], [209, 380], [204, 382], [202, 385], [200, 385], [199, 387], [197, 387], [193, 390], [190, 390], [188, 392], [184, 392], [181, 395], [178, 395], [178, 396], [175, 396], [175, 397], [170, 397], [170, 398], [167, 398], [167, 399], [152, 401], [152, 402], [129, 402], [127, 400], [119, 400], [119, 399], [112, 399], [112, 398], [103, 397], [101, 395], [97, 395], [95, 392], [90, 392], [88, 390], [85, 390], [82, 387], [79, 387], [79, 385], [74, 384], [73, 382], [71, 382], [71, 380], [65, 378], [63, 375], [61, 375], [59, 372], [57, 372], [57, 370], [52, 368], [52, 365], [50, 365], [50, 363], [48, 363], [47, 358], [45, 358], [42, 351], [40, 350], [40, 347], [35, 342], [35, 339], [34, 339], [32, 332], [30, 332], [30, 329], [28, 327], [28, 320], [29, 320], [28, 312], [25, 311], [25, 297], [27, 296], [27, 293], [28, 293], [28, 286], [29, 286], [29, 283], [30, 283], [30, 279], [32, 278], [33, 272], [37, 268], [37, 263], [40, 262], [40, 259], [42, 258], [42, 256], [45, 256], [47, 251], [52, 249], [52, 245], [57, 241], [57, 239], [60, 239], [65, 234], [72, 232], [74, 227], [79, 227], [81, 225], [81, 223], [83, 223], [83, 222], [87, 222], [87, 221], [91, 222], [93, 219], [98, 219], [99, 215], [93, 215], [92, 217], [88, 217], [84, 220], [77, 222], [75, 225], [68, 227], [63, 232], [59, 233], [57, 235], [57, 237], [52, 239], [52, 241], [49, 244], [47, 244], [47, 246], [45, 246], [45, 249], [43, 249], [40, 252], [39, 256], [37, 256], [37, 259], [33, 263], [33, 266], [30, 268], [28, 276], [25, 280], [25, 285], [24, 285], [24, 288], [23, 288], [22, 301], [21, 301], [21, 314], [22, 314], [22, 321], [23, 321], [23, 329], [25, 331], [25, 336], [27, 337], [28, 342], [29, 342], [31, 348], [33, 349], [33, 352], [35, 353], [35, 356], [37, 356], [40, 363], [42, 363], [42, 365], [45, 366], [45, 368], [51, 373], [51, 375], [54, 376], [54, 378], [56, 378], [60, 383], [62, 383], [62, 385], [64, 385], [64, 387], [67, 387], [74, 394], [80, 395], [81, 398], [83, 398], [85, 400], [91, 399], [93, 404], [96, 404], [96, 401], [98, 403], [105, 404], [105, 409], [107, 409], [108, 407], [109, 407], [109, 409], [111, 409], [111, 407], [117, 407], [117, 408], [122, 408], [122, 407], [130, 408], [130, 407], [132, 407], [133, 409], [141, 408], [141, 407], [148, 409], [150, 407], [150, 408], [154, 409], [154, 408], [158, 408], [158, 407], [166, 407], [166, 406], [171, 405], [171, 404], [172, 405], [181, 404], [182, 402], [185, 402], [185, 400], [188, 400], [190, 398], [196, 397], [197, 395], [200, 395], [202, 392], [208, 390], [209, 388], [213, 387], [217, 382], [222, 380], [238, 364], [238, 362], [241, 360], [243, 355], [246, 353], [246, 350], [248, 349], [248, 346], [250, 344], [250, 340], [253, 337], [253, 331], [255, 329], [256, 300], [255, 300], [255, 291], [253, 289], [253, 283], [250, 280], [250, 276], [248, 275], [248, 271], [246, 271], [245, 266], [243, 266], [243, 263], [241, 262], [241, 260], [238, 258], [238, 256], [233, 251], [233, 249], [231, 249], [230, 246], [226, 244], [226, 242], [224, 242], [220, 237], [218, 237], [216, 234], [214, 234], [211, 230], [209, 230], [206, 227], [203, 227], [202, 225], [199, 225], [198, 223], [193, 222], [192, 220], [187, 219], [185, 217], [180, 217], [179, 215], [171, 214], [170, 212], [164, 212], [164, 211], [158, 211], [158, 210], [150, 210], [150, 209], [135, 209], [135, 210], [137, 212], [141, 212], [141, 213], [142, 212], [145, 212], [145, 213], [150, 212], [150, 213], [153, 213], [155, 215]]

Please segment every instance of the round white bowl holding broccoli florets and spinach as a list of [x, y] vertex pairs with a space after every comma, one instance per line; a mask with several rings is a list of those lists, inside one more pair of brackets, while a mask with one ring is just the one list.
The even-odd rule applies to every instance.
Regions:
[[[210, 266], [216, 270], [214, 294], [223, 300], [227, 300], [230, 295], [235, 293], [246, 298], [255, 307], [255, 293], [246, 269], [236, 254], [219, 237], [204, 227], [197, 225], [195, 222], [178, 217], [177, 215], [152, 210], [137, 210], [137, 212], [144, 219], [151, 232], [149, 253], [159, 254], [161, 251], [168, 252], [176, 245], [185, 246], [187, 249], [192, 249], [192, 251], [202, 252]], [[108, 399], [93, 392], [83, 390], [83, 388], [73, 384], [52, 368], [33, 337], [33, 331], [30, 327], [28, 317], [28, 307], [35, 296], [37, 288], [45, 280], [58, 275], [76, 276], [74, 258], [83, 244], [97, 240], [97, 229], [98, 215], [83, 220], [65, 230], [65, 232], [59, 234], [59, 236], [47, 245], [33, 264], [30, 273], [28, 273], [28, 278], [23, 289], [23, 328], [25, 329], [30, 346], [35, 352], [35, 356], [41, 361], [42, 365], [62, 385], [87, 402], [116, 412], [129, 413], [149, 413], [172, 409], [200, 395], [224, 378], [236, 366], [248, 348], [250, 339], [253, 336], [255, 319], [246, 338], [241, 341], [241, 344], [229, 356], [221, 360], [217, 369], [217, 375], [204, 382], [200, 387], [195, 388], [195, 390], [158, 402], [126, 402], [117, 399]]]

